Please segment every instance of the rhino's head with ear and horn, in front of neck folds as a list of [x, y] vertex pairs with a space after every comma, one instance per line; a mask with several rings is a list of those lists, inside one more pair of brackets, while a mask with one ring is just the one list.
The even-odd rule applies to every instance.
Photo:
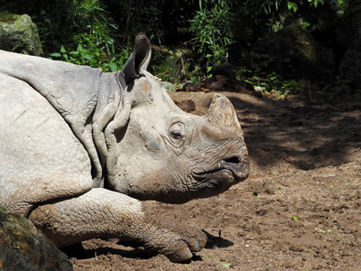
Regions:
[[180, 203], [244, 181], [248, 154], [229, 99], [216, 94], [203, 117], [182, 111], [162, 81], [146, 71], [150, 58], [149, 40], [138, 36], [117, 75], [126, 86], [124, 110], [130, 110], [127, 121], [111, 129], [114, 155], [106, 162], [111, 188], [139, 200]]

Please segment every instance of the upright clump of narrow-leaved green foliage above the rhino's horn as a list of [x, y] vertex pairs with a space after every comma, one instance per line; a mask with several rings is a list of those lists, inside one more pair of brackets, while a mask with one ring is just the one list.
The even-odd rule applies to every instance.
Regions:
[[[199, 2], [201, 4], [201, 1]], [[199, 54], [199, 62], [204, 63], [209, 73], [216, 65], [227, 61], [228, 46], [232, 37], [231, 2], [227, 0], [204, 1], [199, 11], [190, 20], [190, 40]]]

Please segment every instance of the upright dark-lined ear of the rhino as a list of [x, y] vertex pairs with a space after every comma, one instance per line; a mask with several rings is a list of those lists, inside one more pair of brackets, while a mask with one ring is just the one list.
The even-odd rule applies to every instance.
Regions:
[[[138, 34], [135, 37], [133, 53], [126, 61], [119, 75], [125, 80], [125, 86], [133, 82], [134, 79], [139, 78], [140, 70], [146, 70], [151, 61], [151, 56], [151, 42], [144, 34]], [[123, 80], [120, 78], [120, 81]]]

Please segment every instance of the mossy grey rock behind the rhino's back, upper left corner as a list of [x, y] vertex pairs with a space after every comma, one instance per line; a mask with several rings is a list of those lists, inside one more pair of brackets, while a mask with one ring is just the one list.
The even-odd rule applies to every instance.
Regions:
[[29, 15], [0, 14], [0, 49], [42, 55], [38, 29]]

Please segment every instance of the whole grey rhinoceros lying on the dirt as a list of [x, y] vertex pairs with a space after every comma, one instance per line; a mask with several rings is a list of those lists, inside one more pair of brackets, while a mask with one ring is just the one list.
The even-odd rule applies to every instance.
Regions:
[[150, 59], [145, 35], [116, 72], [0, 51], [0, 204], [57, 247], [119, 238], [190, 259], [205, 233], [149, 201], [213, 196], [249, 173], [229, 99], [216, 94], [203, 117], [183, 112]]

